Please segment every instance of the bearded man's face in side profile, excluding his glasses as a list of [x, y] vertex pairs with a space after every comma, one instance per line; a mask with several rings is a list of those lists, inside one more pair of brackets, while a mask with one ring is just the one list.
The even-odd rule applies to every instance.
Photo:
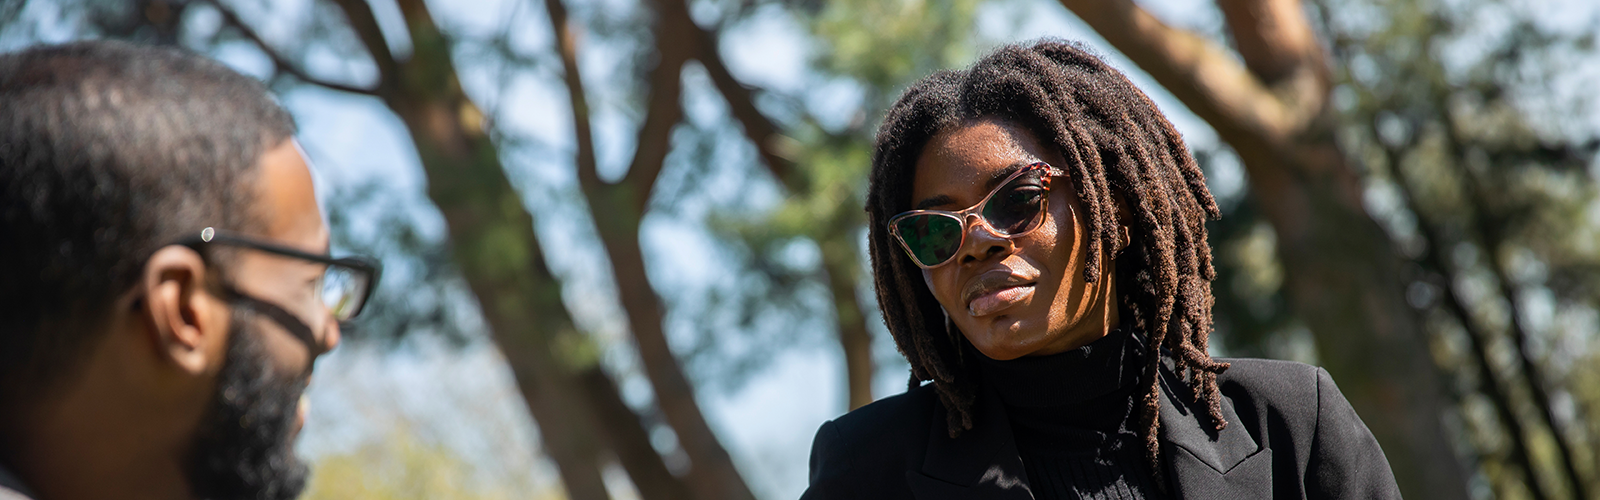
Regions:
[[[328, 252], [328, 228], [317, 208], [310, 170], [293, 141], [262, 155], [254, 183], [261, 231], [278, 245]], [[238, 250], [227, 285], [278, 306], [314, 332], [318, 351], [339, 343], [339, 325], [317, 295], [325, 266], [266, 252]], [[306, 421], [304, 389], [310, 346], [282, 324], [234, 308], [227, 354], [216, 391], [190, 449], [189, 476], [203, 498], [294, 498], [307, 468], [293, 452]]]

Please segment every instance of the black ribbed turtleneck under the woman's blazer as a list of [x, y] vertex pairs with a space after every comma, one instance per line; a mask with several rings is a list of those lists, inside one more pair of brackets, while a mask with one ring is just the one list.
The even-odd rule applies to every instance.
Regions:
[[1122, 330], [1051, 356], [973, 356], [1005, 404], [1034, 498], [1163, 498], [1139, 438], [1144, 338]]

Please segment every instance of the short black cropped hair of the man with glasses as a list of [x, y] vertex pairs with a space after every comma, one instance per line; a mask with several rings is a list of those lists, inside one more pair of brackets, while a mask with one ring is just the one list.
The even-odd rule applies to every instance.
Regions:
[[157, 248], [253, 226], [245, 186], [293, 135], [261, 82], [182, 50], [0, 54], [0, 402], [72, 372]]

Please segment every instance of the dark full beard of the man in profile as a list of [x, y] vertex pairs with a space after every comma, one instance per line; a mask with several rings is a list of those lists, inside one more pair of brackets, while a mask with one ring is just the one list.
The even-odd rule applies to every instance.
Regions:
[[278, 373], [256, 317], [234, 308], [216, 394], [189, 450], [189, 486], [198, 498], [288, 500], [306, 489], [294, 425], [310, 370]]

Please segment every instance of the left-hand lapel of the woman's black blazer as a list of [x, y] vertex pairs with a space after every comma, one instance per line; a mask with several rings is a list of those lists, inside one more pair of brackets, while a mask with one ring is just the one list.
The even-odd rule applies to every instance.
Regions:
[[950, 439], [944, 413], [934, 412], [922, 471], [906, 471], [912, 494], [918, 500], [1032, 500], [1000, 396], [984, 389], [973, 410], [973, 429], [955, 439]]

